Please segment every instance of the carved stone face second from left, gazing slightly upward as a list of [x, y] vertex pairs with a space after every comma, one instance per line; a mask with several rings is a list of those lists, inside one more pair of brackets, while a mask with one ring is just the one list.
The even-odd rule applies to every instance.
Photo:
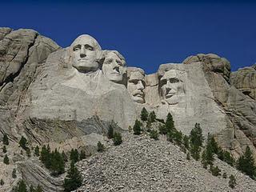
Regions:
[[123, 82], [126, 73], [126, 62], [113, 51], [109, 51], [105, 57], [102, 65], [103, 74], [112, 82]]

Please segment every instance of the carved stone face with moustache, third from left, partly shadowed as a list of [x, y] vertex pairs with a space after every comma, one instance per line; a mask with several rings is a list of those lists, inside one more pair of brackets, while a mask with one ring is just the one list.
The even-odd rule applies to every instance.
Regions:
[[130, 78], [127, 82], [127, 90], [129, 91], [134, 102], [145, 102], [145, 80], [144, 74], [139, 71], [134, 71], [130, 74]]

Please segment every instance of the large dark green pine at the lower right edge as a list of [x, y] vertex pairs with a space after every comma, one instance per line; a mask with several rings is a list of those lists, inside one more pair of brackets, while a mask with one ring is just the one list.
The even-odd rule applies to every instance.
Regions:
[[238, 170], [241, 170], [244, 174], [249, 175], [250, 178], [255, 179], [256, 166], [249, 146], [246, 146], [245, 154], [238, 158]]

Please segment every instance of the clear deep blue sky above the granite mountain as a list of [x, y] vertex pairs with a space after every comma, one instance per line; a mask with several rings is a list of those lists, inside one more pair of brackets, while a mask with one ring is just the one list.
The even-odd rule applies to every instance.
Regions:
[[90, 34], [147, 74], [199, 53], [227, 58], [232, 70], [256, 62], [256, 2], [45, 0], [0, 7], [0, 26], [37, 30], [62, 47]]

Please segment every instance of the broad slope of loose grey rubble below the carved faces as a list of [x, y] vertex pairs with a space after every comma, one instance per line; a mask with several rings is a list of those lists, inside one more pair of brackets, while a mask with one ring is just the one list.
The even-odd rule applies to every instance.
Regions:
[[227, 178], [214, 177], [200, 162], [187, 160], [178, 146], [160, 137], [124, 134], [121, 146], [78, 162], [83, 184], [76, 191], [230, 191], [229, 176], [238, 185], [232, 191], [253, 192], [256, 182], [234, 167], [214, 162]]

